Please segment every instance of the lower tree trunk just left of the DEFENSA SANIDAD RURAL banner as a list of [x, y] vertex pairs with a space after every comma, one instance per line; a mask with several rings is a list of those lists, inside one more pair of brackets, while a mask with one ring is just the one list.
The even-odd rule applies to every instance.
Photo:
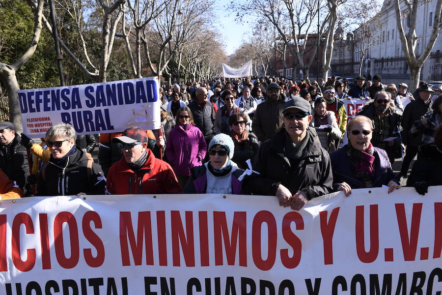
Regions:
[[4, 63], [0, 63], [0, 80], [8, 93], [9, 121], [15, 125], [16, 133], [22, 133], [22, 112], [20, 111], [20, 102], [17, 97], [17, 91], [20, 90], [20, 87], [15, 76], [15, 70], [9, 68]]

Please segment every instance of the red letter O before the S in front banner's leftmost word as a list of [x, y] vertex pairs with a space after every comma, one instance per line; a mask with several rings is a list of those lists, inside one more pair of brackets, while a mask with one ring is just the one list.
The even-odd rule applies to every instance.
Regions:
[[[64, 256], [63, 244], [63, 223], [67, 223], [69, 229], [69, 242], [71, 257]], [[80, 245], [78, 241], [78, 227], [75, 216], [70, 212], [60, 212], [54, 219], [54, 245], [55, 257], [58, 264], [64, 268], [73, 268], [78, 264], [80, 258]]]

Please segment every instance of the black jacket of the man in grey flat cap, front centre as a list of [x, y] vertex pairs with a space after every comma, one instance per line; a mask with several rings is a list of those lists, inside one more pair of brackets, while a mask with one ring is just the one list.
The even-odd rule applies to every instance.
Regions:
[[308, 127], [310, 137], [303, 157], [292, 167], [284, 154], [285, 129], [266, 141], [253, 159], [253, 174], [249, 186], [256, 195], [276, 196], [279, 184], [287, 187], [294, 195], [303, 190], [310, 200], [331, 192], [333, 177], [329, 153], [321, 147], [313, 127]]

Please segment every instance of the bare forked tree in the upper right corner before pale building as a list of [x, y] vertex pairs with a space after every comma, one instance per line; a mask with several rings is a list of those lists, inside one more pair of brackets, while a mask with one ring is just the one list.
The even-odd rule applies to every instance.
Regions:
[[[442, 28], [441, 20], [441, 9], [442, 0], [437, 0], [436, 9], [434, 10], [434, 22], [433, 29], [431, 30], [430, 38], [422, 50], [422, 54], [419, 58], [416, 57], [415, 49], [418, 36], [416, 35], [416, 15], [419, 9], [419, 5], [422, 1], [419, 0], [404, 0], [405, 9], [404, 13], [401, 10], [400, 0], [394, 1], [394, 7], [396, 12], [396, 26], [399, 33], [399, 39], [402, 44], [402, 51], [404, 52], [405, 60], [407, 60], [408, 66], [410, 67], [410, 89], [414, 91], [417, 88], [420, 79], [420, 71], [425, 60], [428, 59], [431, 50], [439, 36], [439, 31]], [[405, 34], [404, 27], [402, 25], [402, 20], [405, 19], [408, 22], [409, 30]]]

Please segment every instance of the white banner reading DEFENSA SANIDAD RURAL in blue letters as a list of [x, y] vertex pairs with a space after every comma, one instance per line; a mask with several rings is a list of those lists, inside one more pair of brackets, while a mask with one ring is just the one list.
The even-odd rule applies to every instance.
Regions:
[[158, 77], [19, 90], [23, 133], [44, 137], [57, 123], [77, 135], [160, 128]]

